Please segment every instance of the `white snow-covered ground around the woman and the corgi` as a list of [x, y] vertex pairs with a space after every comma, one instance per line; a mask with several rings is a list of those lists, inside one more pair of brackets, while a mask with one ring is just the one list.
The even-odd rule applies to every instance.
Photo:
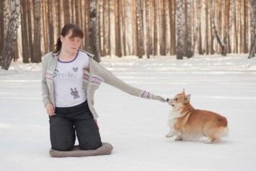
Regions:
[[0, 70], [0, 170], [256, 170], [256, 58], [114, 57], [101, 64], [126, 83], [165, 98], [185, 88], [195, 108], [226, 116], [229, 136], [216, 144], [167, 139], [171, 106], [103, 83], [95, 106], [102, 141], [113, 145], [112, 154], [51, 158], [40, 64], [17, 62]]

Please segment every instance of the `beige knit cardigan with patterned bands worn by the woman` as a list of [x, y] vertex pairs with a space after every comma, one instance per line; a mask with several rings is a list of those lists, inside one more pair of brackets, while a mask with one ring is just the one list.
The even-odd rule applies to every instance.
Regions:
[[[100, 87], [100, 84], [102, 82], [107, 83], [110, 86], [114, 86], [115, 88], [118, 88], [121, 91], [131, 94], [132, 96], [138, 96], [141, 98], [166, 102], [166, 99], [162, 98], [161, 96], [155, 96], [152, 93], [128, 85], [127, 83], [123, 82], [123, 80], [120, 80], [115, 75], [113, 75], [109, 70], [102, 67], [102, 65], [93, 60], [92, 54], [89, 54], [84, 50], [79, 51], [89, 55], [89, 70], [84, 69], [83, 86], [84, 90], [87, 91], [87, 102], [89, 105], [89, 109], [92, 112], [92, 115], [94, 116], [94, 119], [97, 119], [98, 117], [97, 112], [94, 109], [94, 92], [97, 90], [97, 88]], [[57, 61], [58, 55], [54, 52], [49, 52], [43, 57], [42, 63], [43, 75], [41, 83], [43, 103], [44, 105], [46, 105], [46, 103], [52, 103], [54, 107], [55, 100], [53, 90], [53, 73], [56, 68]]]

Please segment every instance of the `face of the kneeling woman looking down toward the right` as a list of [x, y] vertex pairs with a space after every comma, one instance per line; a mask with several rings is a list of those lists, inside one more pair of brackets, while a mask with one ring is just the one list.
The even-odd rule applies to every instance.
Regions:
[[70, 53], [76, 53], [81, 45], [81, 38], [71, 37], [71, 36], [72, 36], [72, 31], [66, 34], [65, 37], [61, 35], [61, 42], [62, 42], [61, 50], [64, 50]]

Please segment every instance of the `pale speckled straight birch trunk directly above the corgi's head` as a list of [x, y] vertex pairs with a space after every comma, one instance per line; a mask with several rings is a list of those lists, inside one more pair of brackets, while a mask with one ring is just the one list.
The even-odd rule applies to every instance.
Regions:
[[177, 60], [183, 59], [183, 45], [184, 45], [184, 28], [185, 28], [185, 0], [176, 2], [176, 22], [177, 22], [177, 47], [176, 47], [176, 58]]

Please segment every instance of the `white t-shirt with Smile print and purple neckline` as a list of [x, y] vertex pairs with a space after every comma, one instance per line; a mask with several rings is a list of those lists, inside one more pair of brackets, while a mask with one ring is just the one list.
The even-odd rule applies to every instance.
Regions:
[[57, 107], [71, 107], [87, 100], [83, 89], [84, 68], [89, 65], [88, 55], [77, 52], [74, 60], [58, 60], [53, 75], [54, 95]]

